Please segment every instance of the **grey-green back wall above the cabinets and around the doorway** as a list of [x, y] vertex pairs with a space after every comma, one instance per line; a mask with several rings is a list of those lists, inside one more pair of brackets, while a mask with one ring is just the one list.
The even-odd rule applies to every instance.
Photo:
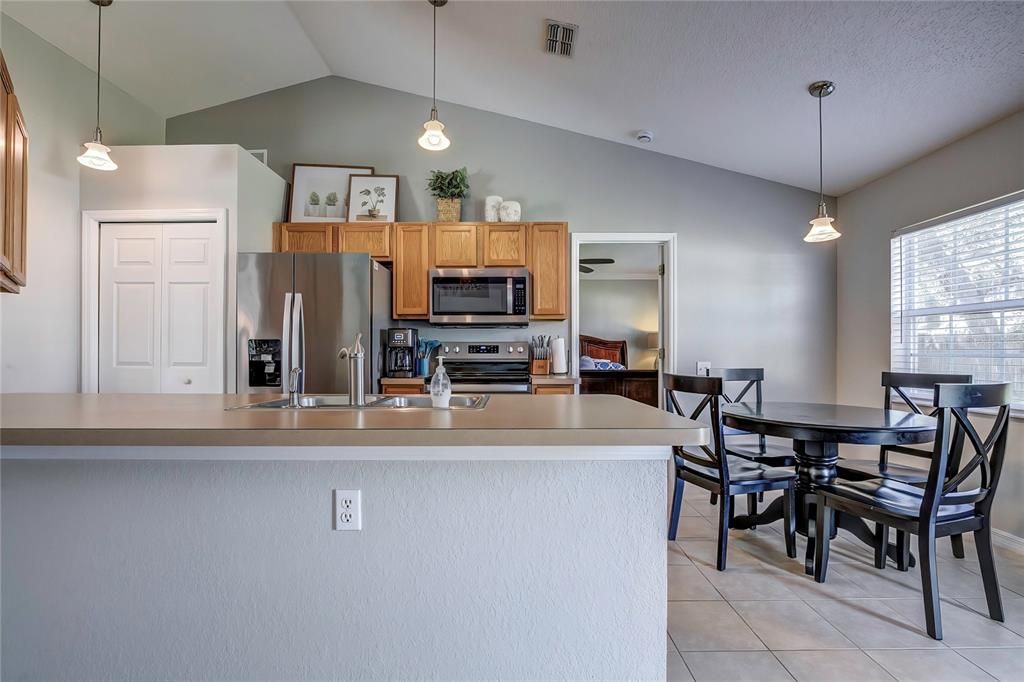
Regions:
[[496, 194], [521, 202], [525, 219], [568, 220], [575, 232], [676, 232], [679, 368], [763, 365], [769, 396], [835, 397], [836, 251], [802, 241], [813, 193], [489, 112], [439, 109], [452, 146], [426, 152], [416, 138], [429, 99], [329, 77], [172, 118], [167, 141], [265, 147], [285, 177], [293, 162], [396, 173], [402, 220], [433, 217], [431, 169], [467, 166], [465, 219], [481, 219], [483, 198]]

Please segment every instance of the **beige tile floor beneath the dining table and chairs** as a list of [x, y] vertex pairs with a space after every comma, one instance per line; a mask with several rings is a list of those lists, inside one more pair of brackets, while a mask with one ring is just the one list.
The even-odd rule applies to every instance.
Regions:
[[[987, 615], [974, 543], [967, 558], [939, 541], [945, 639], [925, 631], [916, 568], [872, 566], [845, 531], [828, 580], [785, 556], [779, 524], [729, 534], [729, 567], [715, 569], [718, 508], [688, 486], [669, 543], [669, 680], [988, 680], [1024, 682], [1024, 553], [997, 548], [1006, 623]], [[740, 510], [744, 505], [740, 505]], [[804, 539], [798, 540], [803, 557]]]

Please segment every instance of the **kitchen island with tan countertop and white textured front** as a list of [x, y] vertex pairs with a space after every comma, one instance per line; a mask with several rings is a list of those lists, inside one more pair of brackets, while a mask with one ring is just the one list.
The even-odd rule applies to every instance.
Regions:
[[257, 399], [2, 397], [5, 679], [665, 676], [667, 461], [702, 425], [225, 410]]

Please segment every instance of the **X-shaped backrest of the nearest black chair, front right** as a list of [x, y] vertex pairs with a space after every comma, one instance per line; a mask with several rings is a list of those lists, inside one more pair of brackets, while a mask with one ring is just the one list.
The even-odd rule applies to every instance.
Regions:
[[[988, 514], [1007, 455], [1012, 399], [1013, 384], [1009, 383], [935, 386], [938, 429], [921, 507], [922, 522], [934, 520], [940, 505], [973, 504], [976, 510]], [[997, 412], [988, 435], [982, 438], [968, 411], [986, 408]], [[970, 444], [967, 451], [972, 455], [966, 462], [957, 452], [957, 441]], [[977, 487], [958, 491], [976, 472], [980, 474]]]

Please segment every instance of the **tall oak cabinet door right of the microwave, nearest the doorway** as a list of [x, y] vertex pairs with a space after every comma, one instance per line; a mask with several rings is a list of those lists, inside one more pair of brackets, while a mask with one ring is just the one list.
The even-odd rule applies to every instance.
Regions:
[[529, 232], [530, 317], [568, 316], [568, 224], [535, 222]]

